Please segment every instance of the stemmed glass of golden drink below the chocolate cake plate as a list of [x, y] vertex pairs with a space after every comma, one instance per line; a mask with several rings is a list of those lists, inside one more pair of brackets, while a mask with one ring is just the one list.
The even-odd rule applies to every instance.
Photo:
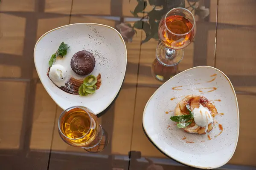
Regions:
[[74, 106], [64, 110], [58, 119], [58, 131], [64, 142], [87, 152], [100, 152], [108, 144], [108, 134], [87, 107]]

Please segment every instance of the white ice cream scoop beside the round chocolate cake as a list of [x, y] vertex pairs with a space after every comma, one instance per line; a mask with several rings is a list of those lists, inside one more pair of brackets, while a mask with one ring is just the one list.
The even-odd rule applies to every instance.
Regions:
[[60, 64], [52, 65], [49, 71], [49, 78], [52, 81], [61, 81], [66, 77], [67, 70]]

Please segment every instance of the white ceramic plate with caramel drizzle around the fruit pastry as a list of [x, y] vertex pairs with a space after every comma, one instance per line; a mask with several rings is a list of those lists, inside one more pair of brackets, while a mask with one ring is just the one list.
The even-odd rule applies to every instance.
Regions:
[[[214, 87], [216, 90], [208, 92]], [[186, 95], [204, 95], [215, 104], [218, 113], [224, 113], [215, 117], [223, 126], [223, 133], [218, 135], [217, 124], [209, 133], [212, 138], [209, 140], [207, 135], [186, 133], [175, 126], [170, 120], [174, 115], [170, 110]], [[163, 84], [148, 100], [143, 127], [151, 141], [176, 161], [202, 169], [221, 167], [233, 156], [239, 136], [235, 90], [227, 76], [213, 67], [198, 66], [183, 71]]]

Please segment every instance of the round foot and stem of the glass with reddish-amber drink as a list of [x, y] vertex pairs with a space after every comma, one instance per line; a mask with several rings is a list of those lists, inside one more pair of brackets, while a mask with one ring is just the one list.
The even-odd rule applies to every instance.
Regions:
[[156, 49], [157, 60], [165, 66], [175, 66], [182, 60], [183, 49], [169, 49], [163, 43], [158, 44]]

